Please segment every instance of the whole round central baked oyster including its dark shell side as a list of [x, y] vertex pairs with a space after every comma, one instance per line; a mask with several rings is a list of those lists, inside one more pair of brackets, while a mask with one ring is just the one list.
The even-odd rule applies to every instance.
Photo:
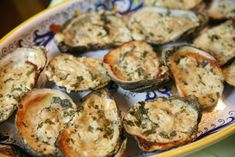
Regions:
[[104, 56], [109, 76], [122, 88], [141, 92], [169, 80], [168, 68], [144, 41], [127, 42]]

